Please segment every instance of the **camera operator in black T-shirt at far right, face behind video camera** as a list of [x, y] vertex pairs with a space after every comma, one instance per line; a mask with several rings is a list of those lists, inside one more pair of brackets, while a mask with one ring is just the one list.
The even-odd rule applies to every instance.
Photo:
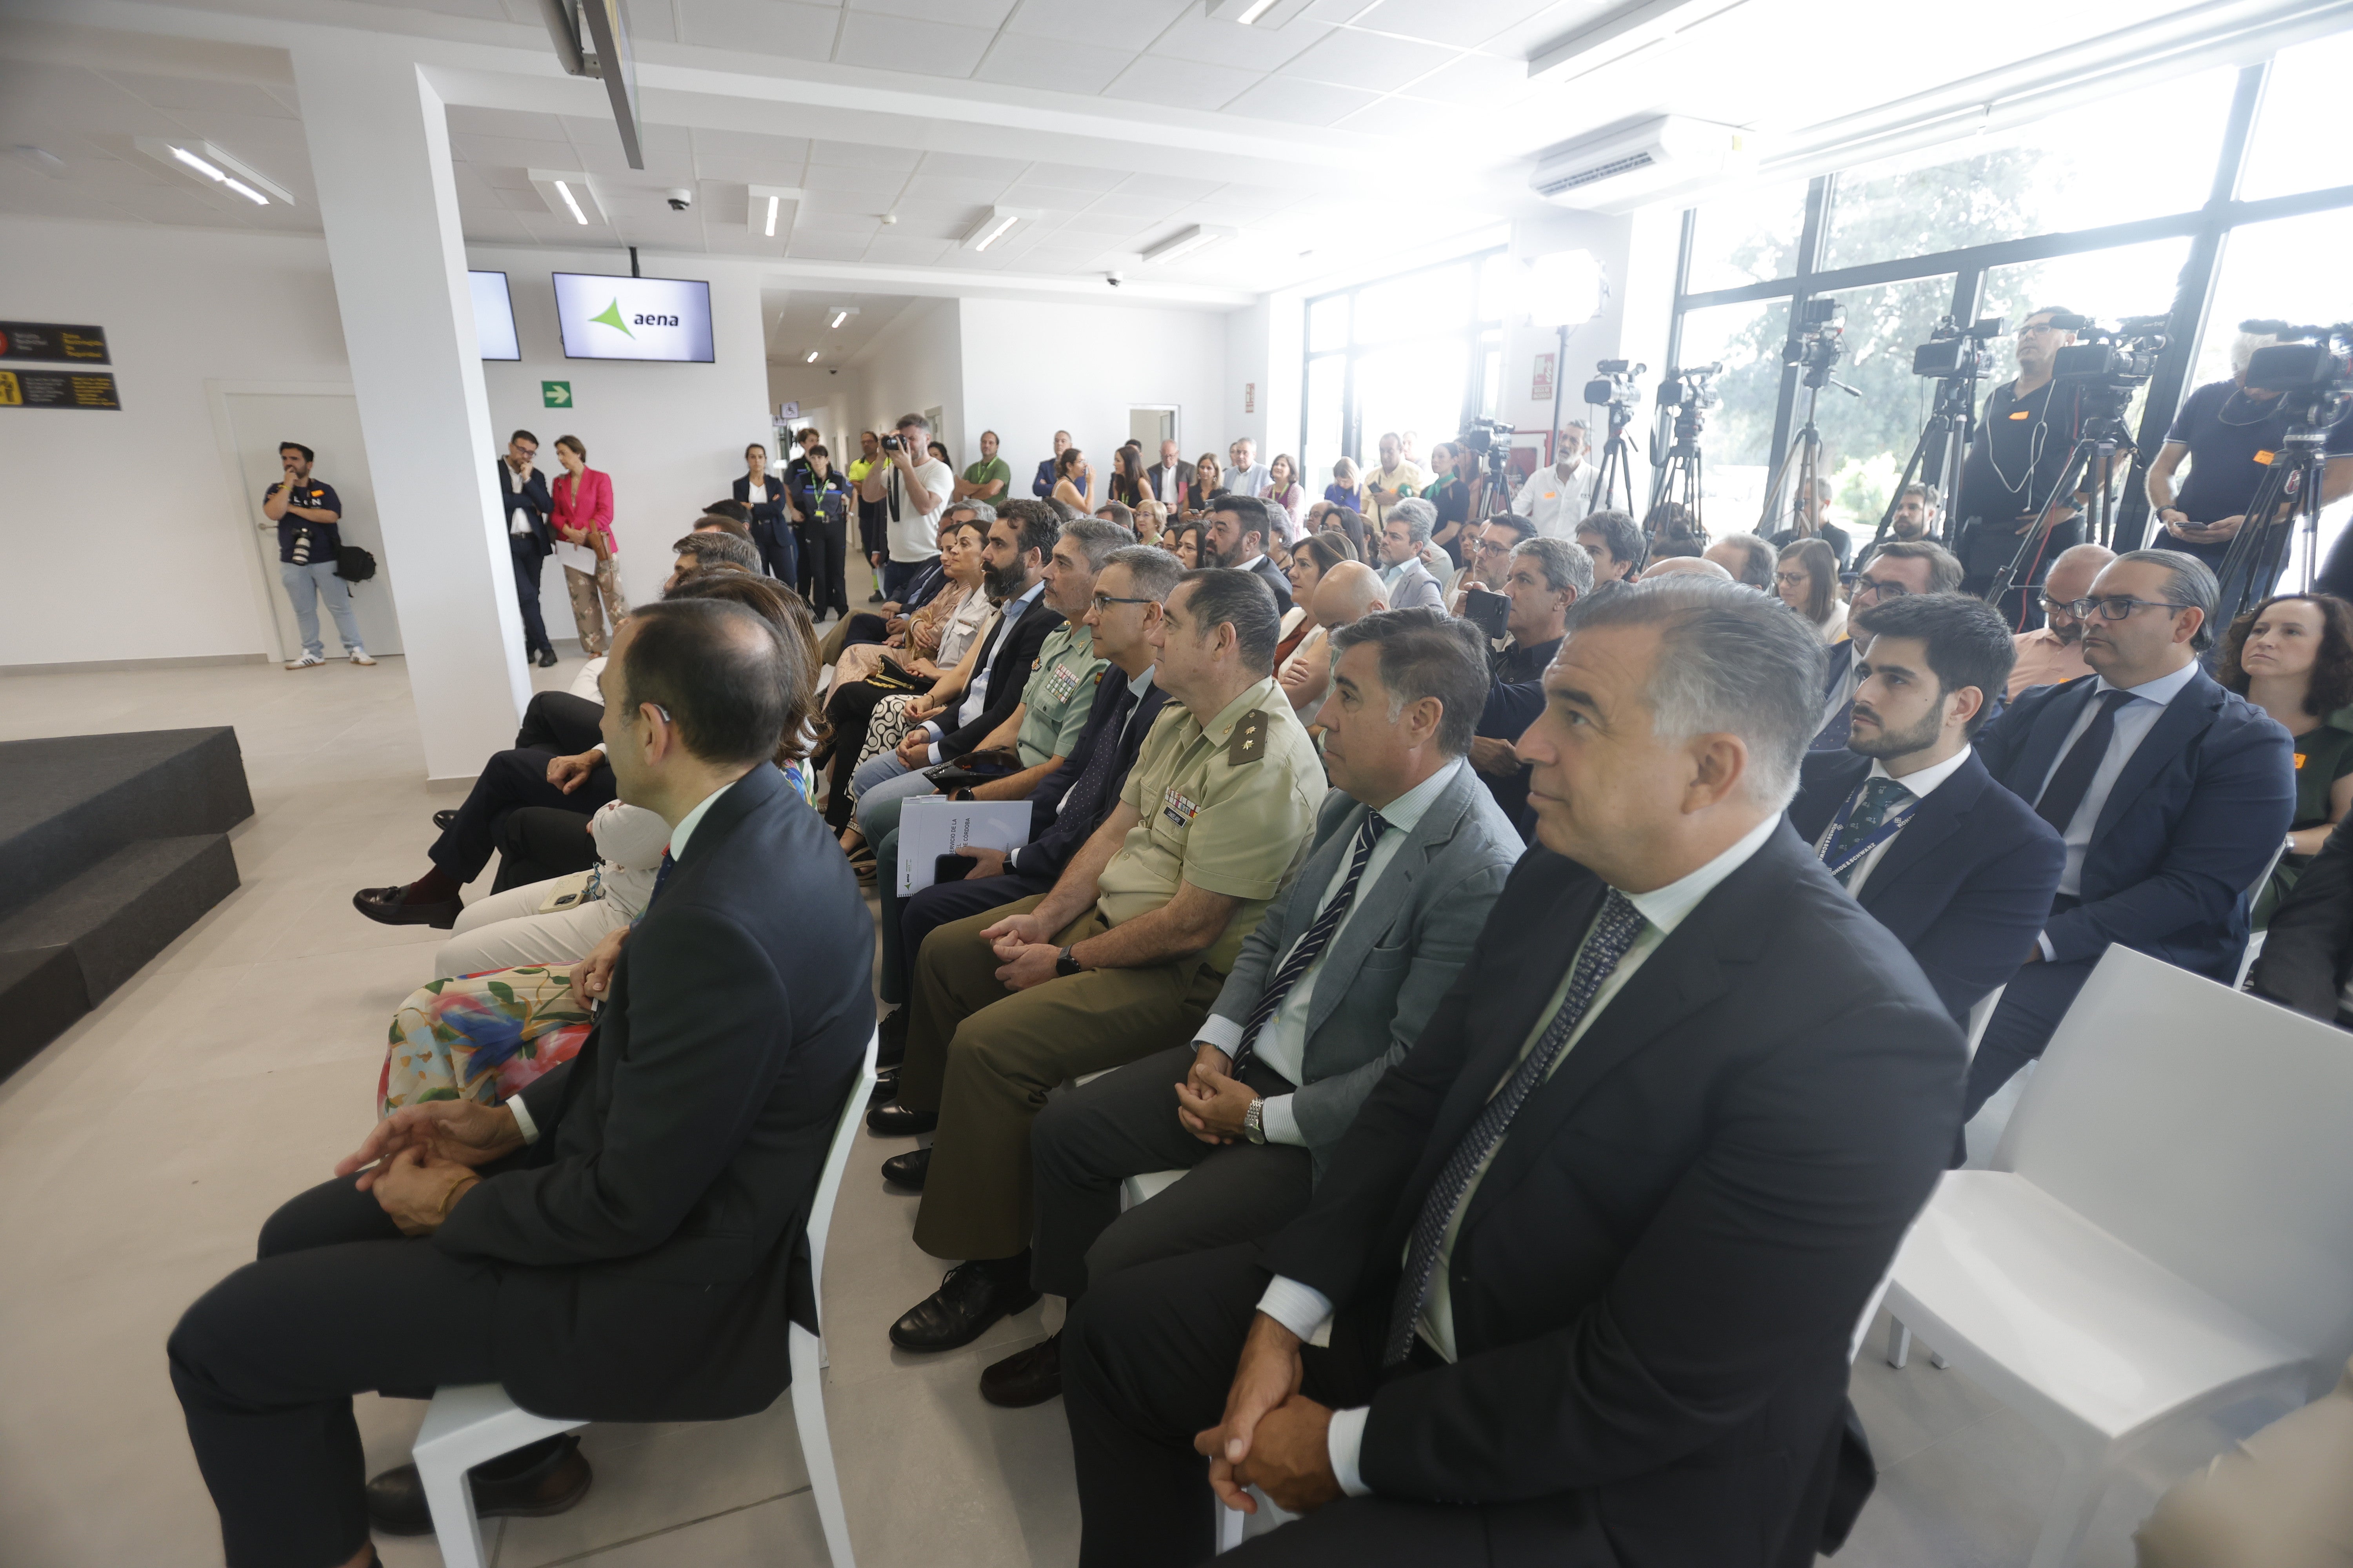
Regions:
[[[2231, 378], [2209, 381], [2181, 400], [2181, 411], [2148, 465], [2148, 508], [2165, 527], [2158, 543], [2214, 569], [2221, 569], [2221, 557], [2245, 527], [2266, 465], [2287, 444], [2289, 409], [2280, 397], [2282, 388], [2247, 383], [2254, 350], [2278, 341], [2271, 331], [2240, 331], [2231, 341]], [[2325, 449], [2329, 465], [2320, 482], [2322, 505], [2353, 491], [2353, 416], [2329, 425]], [[2191, 477], [2177, 489], [2181, 458], [2188, 458]], [[2257, 592], [2271, 592], [2271, 583], [2261, 583]]]

